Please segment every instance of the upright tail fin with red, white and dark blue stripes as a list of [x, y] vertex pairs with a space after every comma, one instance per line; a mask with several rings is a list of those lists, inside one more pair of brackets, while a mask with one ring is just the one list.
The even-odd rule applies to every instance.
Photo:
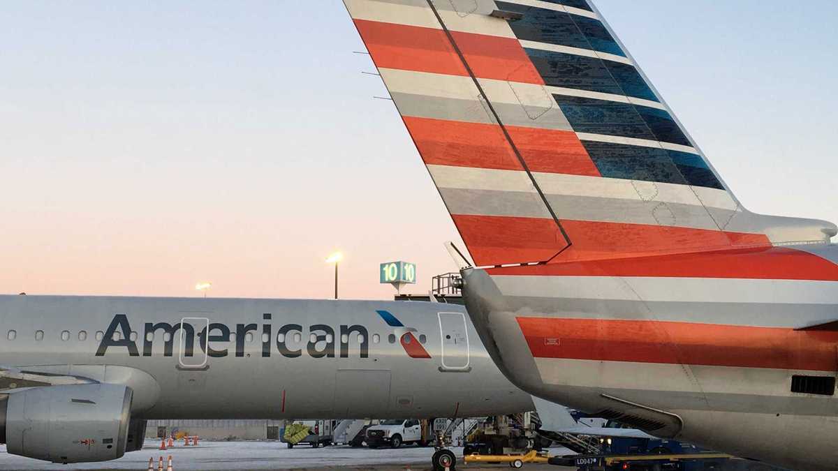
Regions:
[[742, 208], [589, 0], [344, 0], [478, 266], [828, 241]]

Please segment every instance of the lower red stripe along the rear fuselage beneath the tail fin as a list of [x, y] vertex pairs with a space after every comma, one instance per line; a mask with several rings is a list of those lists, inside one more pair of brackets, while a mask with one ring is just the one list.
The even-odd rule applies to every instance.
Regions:
[[536, 358], [834, 371], [838, 332], [643, 320], [518, 318]]

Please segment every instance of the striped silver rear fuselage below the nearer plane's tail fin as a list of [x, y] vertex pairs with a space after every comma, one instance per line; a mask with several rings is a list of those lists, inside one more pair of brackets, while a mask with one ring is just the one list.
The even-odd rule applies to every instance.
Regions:
[[824, 279], [467, 269], [463, 295], [501, 370], [535, 396], [744, 458], [835, 469], [838, 398], [792, 391], [792, 378], [838, 370], [838, 332], [798, 329], [835, 320], [838, 282], [825, 278], [838, 246], [716, 261], [728, 272], [755, 270], [770, 253], [784, 257], [785, 273], [800, 259]]

